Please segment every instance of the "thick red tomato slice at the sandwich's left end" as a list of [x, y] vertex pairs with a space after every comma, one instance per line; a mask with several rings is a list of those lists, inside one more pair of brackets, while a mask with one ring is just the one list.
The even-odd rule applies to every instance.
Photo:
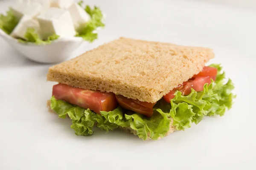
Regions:
[[113, 93], [84, 90], [64, 84], [54, 85], [52, 96], [55, 96], [55, 99], [64, 100], [84, 109], [89, 108], [95, 113], [113, 111], [117, 107], [116, 97]]

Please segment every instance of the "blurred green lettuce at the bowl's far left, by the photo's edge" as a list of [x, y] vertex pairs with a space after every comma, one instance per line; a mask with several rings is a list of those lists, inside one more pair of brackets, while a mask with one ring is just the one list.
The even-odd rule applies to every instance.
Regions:
[[8, 35], [12, 33], [18, 22], [19, 20], [14, 16], [12, 9], [9, 9], [6, 15], [0, 14], [0, 29]]

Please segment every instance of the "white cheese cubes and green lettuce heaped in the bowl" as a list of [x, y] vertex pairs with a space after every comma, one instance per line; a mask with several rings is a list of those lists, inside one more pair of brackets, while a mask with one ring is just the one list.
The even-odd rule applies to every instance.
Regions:
[[0, 29], [22, 43], [49, 44], [61, 37], [82, 37], [92, 42], [104, 27], [98, 7], [82, 7], [73, 0], [18, 0], [6, 15], [0, 15]]

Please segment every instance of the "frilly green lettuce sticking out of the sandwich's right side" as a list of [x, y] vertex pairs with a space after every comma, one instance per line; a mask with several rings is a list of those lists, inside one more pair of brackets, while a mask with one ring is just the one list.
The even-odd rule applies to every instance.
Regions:
[[226, 109], [230, 109], [233, 104], [232, 94], [233, 82], [229, 79], [225, 83], [225, 74], [221, 72], [220, 65], [211, 65], [218, 68], [216, 81], [208, 86], [204, 85], [204, 91], [196, 92], [192, 89], [191, 94], [183, 96], [180, 91], [175, 93], [175, 98], [171, 100], [171, 110], [168, 116], [173, 119], [173, 125], [177, 130], [184, 130], [191, 127], [192, 122], [198, 124], [204, 116], [223, 116]]

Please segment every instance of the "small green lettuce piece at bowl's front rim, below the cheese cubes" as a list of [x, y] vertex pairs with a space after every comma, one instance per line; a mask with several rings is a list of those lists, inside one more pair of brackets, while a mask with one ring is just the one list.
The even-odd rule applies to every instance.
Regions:
[[28, 42], [32, 42], [35, 43], [37, 45], [46, 45], [46, 44], [50, 44], [52, 43], [52, 41], [57, 40], [59, 38], [58, 35], [56, 34], [52, 34], [50, 35], [47, 40], [41, 40], [41, 38], [39, 37], [39, 35], [36, 33], [34, 28], [28, 28], [25, 35], [25, 40], [23, 39], [18, 39], [19, 42], [21, 43], [28, 43]]

